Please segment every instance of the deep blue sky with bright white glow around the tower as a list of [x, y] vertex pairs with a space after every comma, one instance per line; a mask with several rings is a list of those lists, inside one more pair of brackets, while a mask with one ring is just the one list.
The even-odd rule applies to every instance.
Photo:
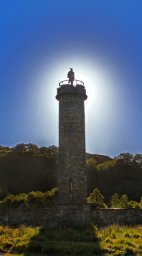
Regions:
[[58, 145], [55, 95], [72, 67], [87, 152], [142, 154], [141, 13], [141, 0], [0, 0], [0, 145]]

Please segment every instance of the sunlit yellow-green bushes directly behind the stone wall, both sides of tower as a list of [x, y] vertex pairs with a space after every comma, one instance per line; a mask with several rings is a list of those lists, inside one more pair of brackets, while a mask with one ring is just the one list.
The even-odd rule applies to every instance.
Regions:
[[[31, 191], [29, 194], [22, 193], [19, 195], [8, 195], [0, 201], [0, 208], [52, 208], [57, 207], [58, 189], [53, 188], [51, 191]], [[110, 203], [104, 203], [104, 196], [101, 195], [99, 189], [94, 189], [87, 198], [90, 204], [96, 204], [100, 208], [142, 208], [142, 198], [138, 203], [136, 201], [129, 201], [127, 195], [121, 197], [115, 193], [111, 196]]]

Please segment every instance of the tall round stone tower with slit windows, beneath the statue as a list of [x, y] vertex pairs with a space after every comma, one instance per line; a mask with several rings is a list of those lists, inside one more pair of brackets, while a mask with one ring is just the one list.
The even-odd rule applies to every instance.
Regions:
[[62, 81], [56, 95], [59, 100], [59, 205], [87, 202], [84, 113], [87, 95], [83, 82], [75, 81], [76, 86]]

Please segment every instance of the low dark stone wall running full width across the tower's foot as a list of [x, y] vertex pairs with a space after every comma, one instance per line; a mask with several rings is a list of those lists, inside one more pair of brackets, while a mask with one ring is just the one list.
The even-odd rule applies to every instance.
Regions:
[[88, 226], [142, 224], [142, 209], [0, 209], [0, 225]]

